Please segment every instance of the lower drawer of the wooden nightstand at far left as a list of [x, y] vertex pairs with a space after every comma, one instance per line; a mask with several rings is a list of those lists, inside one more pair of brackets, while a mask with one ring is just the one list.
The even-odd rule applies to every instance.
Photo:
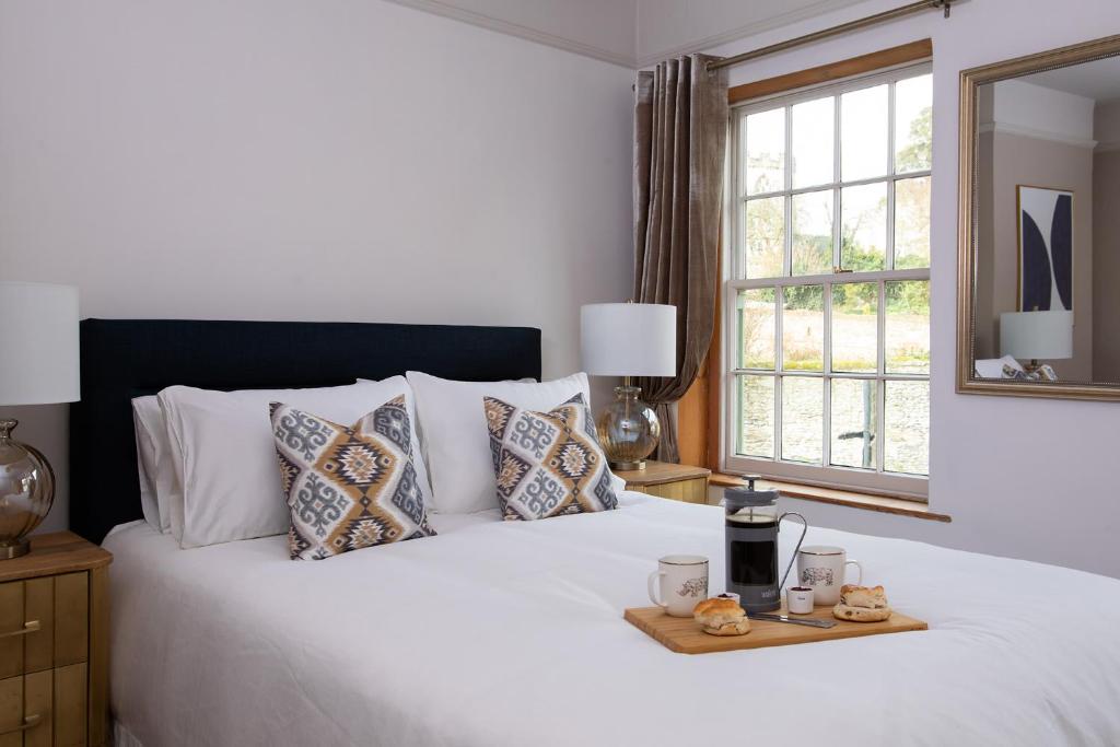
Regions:
[[86, 744], [84, 663], [0, 680], [0, 747]]

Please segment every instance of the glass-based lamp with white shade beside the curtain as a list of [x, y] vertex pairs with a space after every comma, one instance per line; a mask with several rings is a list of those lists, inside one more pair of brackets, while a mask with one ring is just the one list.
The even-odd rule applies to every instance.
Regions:
[[632, 376], [676, 375], [676, 307], [661, 304], [590, 304], [580, 309], [584, 370], [623, 376], [615, 401], [596, 420], [603, 450], [615, 469], [645, 469], [661, 438], [657, 414], [638, 396]]

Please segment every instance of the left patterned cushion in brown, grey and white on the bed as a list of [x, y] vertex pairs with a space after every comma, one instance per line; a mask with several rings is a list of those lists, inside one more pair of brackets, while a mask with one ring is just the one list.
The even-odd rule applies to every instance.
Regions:
[[291, 526], [292, 560], [430, 536], [417, 480], [404, 398], [346, 427], [287, 404], [271, 405]]

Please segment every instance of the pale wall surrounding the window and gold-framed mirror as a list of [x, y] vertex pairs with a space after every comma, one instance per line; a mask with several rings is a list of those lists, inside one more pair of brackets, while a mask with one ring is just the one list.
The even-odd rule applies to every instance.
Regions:
[[[897, 6], [864, 2], [713, 49], [730, 55]], [[958, 76], [961, 69], [1120, 32], [1114, 0], [978, 0], [731, 69], [731, 84], [932, 37], [934, 48], [930, 499], [951, 524], [796, 502], [810, 522], [1120, 576], [1120, 404], [954, 392]], [[793, 504], [794, 502], [791, 502]]]

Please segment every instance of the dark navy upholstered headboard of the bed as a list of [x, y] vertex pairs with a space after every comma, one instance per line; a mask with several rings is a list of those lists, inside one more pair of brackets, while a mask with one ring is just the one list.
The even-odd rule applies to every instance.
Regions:
[[101, 542], [142, 516], [131, 399], [165, 386], [283, 389], [423, 371], [445, 379], [541, 376], [528, 327], [86, 319], [82, 400], [71, 405], [71, 530]]

